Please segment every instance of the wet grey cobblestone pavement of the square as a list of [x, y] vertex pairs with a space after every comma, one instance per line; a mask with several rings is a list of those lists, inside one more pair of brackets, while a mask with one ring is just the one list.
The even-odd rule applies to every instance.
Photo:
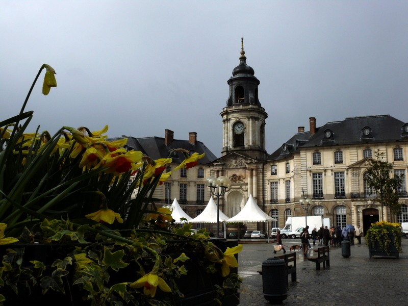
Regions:
[[[243, 278], [240, 305], [271, 305], [262, 287], [264, 260], [273, 257], [273, 242], [245, 243], [238, 255], [238, 274]], [[285, 239], [284, 245], [300, 244], [299, 239]], [[318, 247], [317, 245], [315, 248]], [[287, 298], [281, 305], [408, 305], [408, 239], [402, 238], [399, 259], [370, 258], [364, 238], [350, 246], [349, 258], [342, 257], [341, 247], [330, 247], [330, 267], [316, 270], [314, 262], [304, 260], [297, 251], [297, 282], [289, 282]], [[282, 254], [282, 252], [281, 252]]]

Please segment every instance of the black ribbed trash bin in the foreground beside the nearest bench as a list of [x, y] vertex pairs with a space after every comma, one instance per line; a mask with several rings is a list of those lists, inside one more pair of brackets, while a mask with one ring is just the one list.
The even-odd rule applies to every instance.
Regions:
[[286, 275], [286, 263], [283, 259], [268, 258], [262, 263], [262, 286], [265, 299], [281, 303], [287, 298]]

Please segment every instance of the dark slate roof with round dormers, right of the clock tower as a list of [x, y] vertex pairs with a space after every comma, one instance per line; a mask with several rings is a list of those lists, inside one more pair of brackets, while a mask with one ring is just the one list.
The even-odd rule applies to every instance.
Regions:
[[[281, 146], [269, 155], [267, 160], [289, 158], [301, 148], [408, 141], [408, 133], [403, 132], [405, 124], [407, 123], [390, 115], [347, 117], [342, 121], [327, 122], [317, 127], [312, 136], [310, 131], [295, 134], [285, 142], [288, 144], [286, 152]], [[363, 134], [365, 127], [370, 130], [369, 135]], [[327, 130], [331, 132], [330, 138], [325, 137]]]

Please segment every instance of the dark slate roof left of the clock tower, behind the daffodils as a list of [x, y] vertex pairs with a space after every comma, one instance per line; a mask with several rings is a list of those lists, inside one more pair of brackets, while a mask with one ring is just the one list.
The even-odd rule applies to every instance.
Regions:
[[[210, 149], [200, 141], [196, 141], [194, 145], [191, 144], [188, 140], [174, 139], [168, 146], [164, 144], [163, 137], [156, 136], [143, 138], [115, 137], [109, 138], [109, 141], [115, 141], [123, 138], [127, 138], [127, 146], [133, 148], [136, 151], [142, 151], [143, 154], [146, 154], [154, 160], [159, 158], [168, 158], [169, 152], [172, 149], [176, 148], [186, 149], [191, 152], [191, 154], [194, 152], [197, 152], [198, 154], [205, 153], [206, 156], [198, 160], [199, 164], [208, 164], [217, 159], [213, 152], [211, 152]], [[184, 156], [181, 152], [174, 152], [171, 158], [173, 159], [173, 163], [181, 163], [182, 161], [184, 161]]]

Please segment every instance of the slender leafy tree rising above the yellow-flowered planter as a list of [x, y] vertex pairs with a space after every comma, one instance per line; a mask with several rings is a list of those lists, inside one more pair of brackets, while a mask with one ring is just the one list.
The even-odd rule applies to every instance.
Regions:
[[371, 166], [366, 174], [367, 185], [376, 191], [377, 199], [381, 203], [382, 209], [389, 207], [392, 214], [398, 214], [401, 210], [401, 203], [398, 202], [398, 189], [401, 187], [402, 179], [398, 175], [392, 175], [394, 163], [384, 160], [384, 152], [375, 151], [375, 160], [371, 160]]

